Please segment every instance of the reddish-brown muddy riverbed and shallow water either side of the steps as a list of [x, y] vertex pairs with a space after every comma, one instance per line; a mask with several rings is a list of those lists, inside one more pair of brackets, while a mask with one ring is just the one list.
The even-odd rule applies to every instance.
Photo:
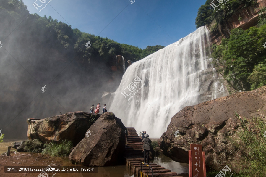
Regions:
[[[12, 141], [0, 143], [0, 176], [13, 177], [13, 176], [38, 176], [40, 173], [4, 173], [4, 166], [81, 166], [73, 165], [68, 157], [50, 157], [46, 154], [29, 153], [29, 152], [17, 152], [11, 148], [12, 152], [9, 157], [2, 156], [3, 152], [7, 151], [7, 147], [10, 146]], [[158, 155], [153, 161], [166, 169], [169, 169], [178, 174], [188, 173], [188, 164], [178, 163], [171, 160], [165, 155]], [[56, 173], [51, 174], [54, 177], [124, 177], [126, 174], [132, 175], [127, 169], [126, 165], [117, 165], [109, 167], [98, 167], [98, 173]]]

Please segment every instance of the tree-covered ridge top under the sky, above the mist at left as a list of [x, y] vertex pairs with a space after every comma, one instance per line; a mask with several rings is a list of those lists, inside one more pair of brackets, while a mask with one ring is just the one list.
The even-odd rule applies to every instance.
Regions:
[[[46, 15], [40, 17], [38, 14], [29, 14], [23, 1], [1, 0], [0, 8], [5, 12], [4, 18], [9, 21], [10, 25], [16, 24], [14, 22], [20, 22], [25, 16], [29, 15], [27, 21], [30, 22], [31, 28], [36, 30], [36, 37], [42, 38], [43, 36], [40, 36], [40, 34], [43, 32], [47, 42], [56, 44], [59, 52], [74, 48], [75, 53], [81, 53], [80, 56], [88, 61], [109, 62], [115, 55], [122, 55], [127, 60], [130, 59], [135, 62], [163, 48], [163, 46], [147, 46], [146, 49], [140, 49], [127, 44], [119, 44], [107, 37], [103, 38], [81, 32], [77, 28], [72, 29], [66, 23], [58, 22], [56, 19], [53, 20], [51, 16], [47, 18]], [[12, 25], [10, 27], [8, 30], [12, 30], [12, 27], [15, 28], [16, 26]], [[90, 41], [91, 47], [86, 49], [85, 44], [88, 41]]]

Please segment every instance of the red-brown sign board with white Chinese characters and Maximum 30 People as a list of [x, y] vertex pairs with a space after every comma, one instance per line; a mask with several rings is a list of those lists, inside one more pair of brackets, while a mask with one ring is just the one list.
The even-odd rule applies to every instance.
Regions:
[[189, 177], [206, 177], [205, 153], [202, 152], [202, 145], [190, 144]]

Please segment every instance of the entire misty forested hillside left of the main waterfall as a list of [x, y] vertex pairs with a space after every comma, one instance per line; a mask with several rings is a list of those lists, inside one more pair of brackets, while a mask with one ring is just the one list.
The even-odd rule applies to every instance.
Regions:
[[112, 70], [116, 55], [135, 62], [163, 48], [140, 49], [84, 33], [52, 17], [29, 14], [18, 0], [0, 0], [0, 17], [1, 124], [20, 131], [3, 127], [7, 138], [26, 138], [21, 133], [27, 132], [27, 118], [89, 112], [92, 104], [107, 104], [103, 93], [114, 92], [123, 75]]

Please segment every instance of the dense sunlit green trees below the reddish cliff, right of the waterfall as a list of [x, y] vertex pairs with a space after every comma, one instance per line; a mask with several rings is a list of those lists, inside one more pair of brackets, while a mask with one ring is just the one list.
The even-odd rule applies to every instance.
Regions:
[[[260, 28], [251, 27], [248, 30], [236, 28], [231, 30], [229, 39], [223, 39], [220, 46], [213, 45], [212, 57], [214, 67], [218, 72], [223, 73], [224, 78], [233, 83], [236, 89], [248, 91], [262, 86], [263, 78], [258, 80], [257, 73], [262, 73], [262, 65], [265, 63], [265, 49], [262, 39], [266, 40], [266, 25]], [[254, 67], [256, 72], [253, 73]], [[252, 74], [253, 73], [253, 74]], [[249, 79], [248, 79], [249, 78]]]

